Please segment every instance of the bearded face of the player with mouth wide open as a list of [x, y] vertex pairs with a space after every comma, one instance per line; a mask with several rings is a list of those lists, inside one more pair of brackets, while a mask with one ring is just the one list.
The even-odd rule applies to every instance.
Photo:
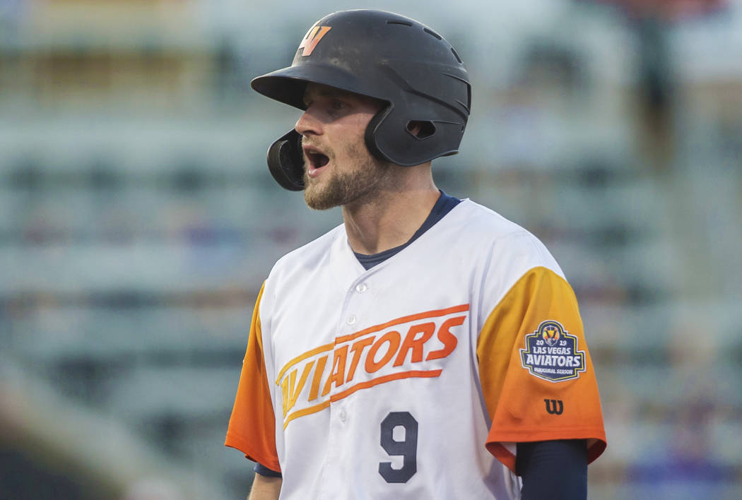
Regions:
[[391, 165], [372, 157], [364, 141], [381, 104], [317, 84], [307, 85], [304, 103], [295, 128], [302, 135], [306, 204], [325, 210], [371, 200], [390, 179]]

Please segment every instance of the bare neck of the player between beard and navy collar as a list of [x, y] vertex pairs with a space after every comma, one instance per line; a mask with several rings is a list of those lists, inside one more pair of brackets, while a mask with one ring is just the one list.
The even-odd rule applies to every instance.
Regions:
[[370, 255], [403, 245], [430, 214], [440, 195], [430, 170], [424, 176], [413, 171], [404, 174], [393, 186], [375, 193], [372, 200], [343, 205], [345, 231], [353, 251]]

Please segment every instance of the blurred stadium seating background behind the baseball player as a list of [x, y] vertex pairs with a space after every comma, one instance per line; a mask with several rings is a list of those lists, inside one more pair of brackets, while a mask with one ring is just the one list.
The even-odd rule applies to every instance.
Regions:
[[[436, 180], [574, 285], [590, 498], [742, 498], [742, 1], [363, 6], [457, 48], [473, 115]], [[257, 291], [340, 220], [269, 177], [298, 113], [249, 81], [347, 7], [0, 0], [0, 498], [244, 498], [223, 437]]]

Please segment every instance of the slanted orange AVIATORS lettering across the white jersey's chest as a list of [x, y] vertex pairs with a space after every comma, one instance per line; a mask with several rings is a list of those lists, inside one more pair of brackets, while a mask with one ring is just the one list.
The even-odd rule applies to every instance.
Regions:
[[456, 349], [469, 305], [404, 316], [344, 335], [287, 363], [276, 384], [283, 395], [283, 428], [361, 389], [401, 378], [441, 375]]

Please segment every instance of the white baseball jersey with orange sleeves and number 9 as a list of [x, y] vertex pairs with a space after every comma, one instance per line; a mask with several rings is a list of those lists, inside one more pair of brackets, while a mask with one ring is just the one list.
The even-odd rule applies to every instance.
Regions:
[[463, 200], [366, 270], [338, 226], [276, 263], [226, 444], [280, 499], [516, 499], [515, 443], [605, 449], [577, 301], [542, 243]]

